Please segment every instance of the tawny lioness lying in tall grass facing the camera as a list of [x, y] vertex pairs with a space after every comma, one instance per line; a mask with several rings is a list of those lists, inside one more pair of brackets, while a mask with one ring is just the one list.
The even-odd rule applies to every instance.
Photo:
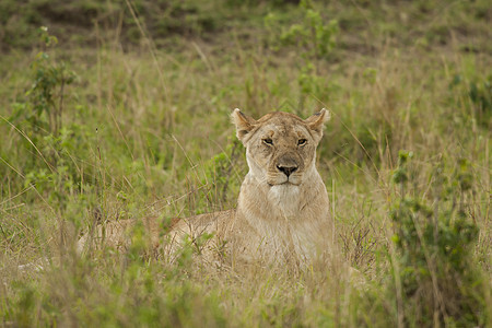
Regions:
[[[249, 166], [237, 208], [183, 219], [172, 227], [169, 239], [179, 245], [186, 237], [197, 241], [211, 234], [202, 245], [206, 257], [225, 250], [229, 258], [246, 261], [303, 261], [329, 250], [328, 194], [315, 166], [316, 147], [328, 119], [326, 109], [305, 120], [281, 112], [255, 120], [235, 109], [232, 121]], [[118, 231], [128, 224], [107, 224], [107, 241], [120, 243]], [[145, 221], [145, 226], [159, 243], [156, 225]]]

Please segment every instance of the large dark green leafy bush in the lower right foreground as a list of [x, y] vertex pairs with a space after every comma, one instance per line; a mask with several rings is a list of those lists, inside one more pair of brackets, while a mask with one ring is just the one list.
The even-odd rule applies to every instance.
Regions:
[[[400, 195], [391, 209], [396, 230], [405, 320], [410, 326], [483, 325], [483, 282], [472, 266], [477, 225], [468, 218], [465, 200], [471, 174], [458, 163], [452, 180], [438, 165], [432, 176], [432, 204], [415, 192], [417, 173], [411, 152], [399, 153], [393, 176]], [[400, 314], [401, 315], [401, 314]]]

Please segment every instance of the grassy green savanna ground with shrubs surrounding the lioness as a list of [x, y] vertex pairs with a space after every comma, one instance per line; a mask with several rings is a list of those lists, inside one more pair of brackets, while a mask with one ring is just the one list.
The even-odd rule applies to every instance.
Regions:
[[[487, 327], [491, 21], [487, 0], [1, 1], [0, 325]], [[140, 225], [75, 251], [94, 224], [233, 208], [235, 107], [332, 112], [318, 169], [362, 286], [196, 245], [171, 263]]]

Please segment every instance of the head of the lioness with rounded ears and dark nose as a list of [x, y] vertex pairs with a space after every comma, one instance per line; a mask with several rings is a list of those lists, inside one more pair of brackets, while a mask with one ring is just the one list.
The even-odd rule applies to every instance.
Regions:
[[329, 116], [326, 109], [307, 119], [277, 112], [255, 120], [235, 109], [232, 119], [246, 147], [249, 173], [269, 186], [301, 185], [315, 169], [316, 147]]

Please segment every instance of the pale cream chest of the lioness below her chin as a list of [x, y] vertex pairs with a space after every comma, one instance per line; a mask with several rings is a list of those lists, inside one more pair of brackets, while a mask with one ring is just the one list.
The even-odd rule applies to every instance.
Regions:
[[238, 225], [232, 230], [238, 249], [247, 249], [247, 258], [312, 258], [329, 231], [323, 181], [311, 181], [307, 190], [302, 185], [260, 188], [255, 183], [247, 177], [239, 195]]

